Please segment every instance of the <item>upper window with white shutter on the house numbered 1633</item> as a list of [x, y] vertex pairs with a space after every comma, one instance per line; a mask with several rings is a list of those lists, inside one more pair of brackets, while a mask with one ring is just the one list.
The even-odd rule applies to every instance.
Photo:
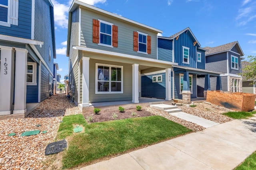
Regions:
[[18, 25], [18, 0], [0, 0], [0, 25]]

